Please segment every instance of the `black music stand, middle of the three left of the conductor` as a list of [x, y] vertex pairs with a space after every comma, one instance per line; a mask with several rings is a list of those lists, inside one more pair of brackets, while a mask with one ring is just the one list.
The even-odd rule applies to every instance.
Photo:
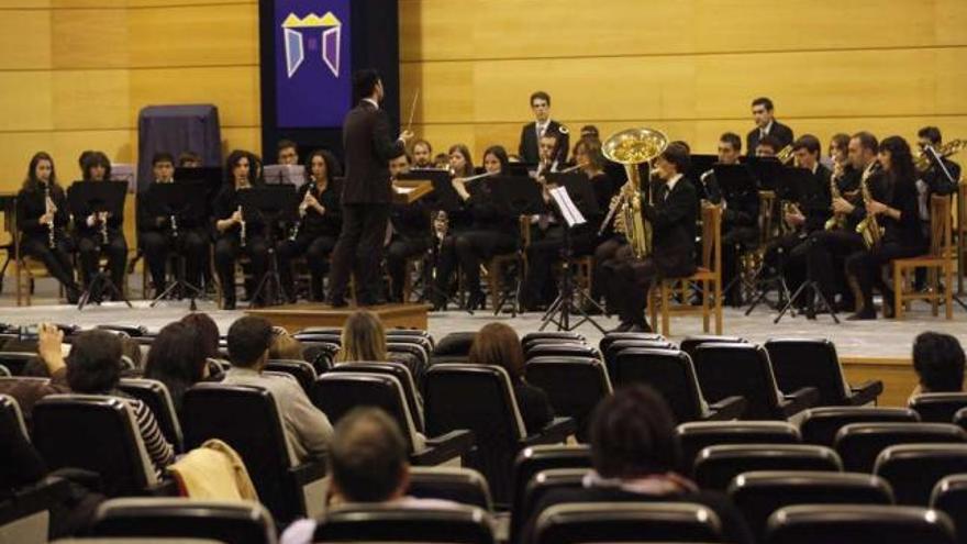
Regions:
[[154, 308], [170, 296], [177, 289], [182, 295], [188, 292], [190, 299], [190, 310], [198, 310], [196, 299], [207, 299], [204, 291], [194, 286], [185, 278], [185, 254], [179, 251], [177, 240], [179, 237], [177, 225], [179, 223], [198, 224], [204, 221], [205, 214], [205, 195], [204, 186], [199, 181], [175, 181], [174, 184], [152, 184], [147, 188], [147, 199], [157, 202], [158, 209], [165, 212], [165, 215], [175, 219], [173, 222], [171, 235], [176, 240], [175, 258], [177, 259], [177, 270], [175, 273], [175, 281], [168, 286], [163, 292], [158, 293], [152, 300], [149, 308]]

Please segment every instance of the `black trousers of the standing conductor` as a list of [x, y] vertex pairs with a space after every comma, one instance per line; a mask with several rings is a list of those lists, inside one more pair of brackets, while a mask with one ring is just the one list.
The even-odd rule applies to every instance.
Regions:
[[379, 266], [390, 204], [343, 204], [343, 230], [333, 249], [329, 298], [342, 303], [349, 273], [356, 274], [357, 302], [370, 304], [379, 293]]

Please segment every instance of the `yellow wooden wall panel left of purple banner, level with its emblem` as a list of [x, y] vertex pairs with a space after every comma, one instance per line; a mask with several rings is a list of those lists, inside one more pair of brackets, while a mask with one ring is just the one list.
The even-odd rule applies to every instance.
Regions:
[[137, 9], [127, 20], [132, 67], [258, 65], [258, 12], [251, 4]]

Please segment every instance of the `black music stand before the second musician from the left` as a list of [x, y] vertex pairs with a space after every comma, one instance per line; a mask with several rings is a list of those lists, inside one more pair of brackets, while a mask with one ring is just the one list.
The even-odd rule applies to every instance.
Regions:
[[[75, 181], [67, 188], [67, 207], [75, 218], [87, 220], [87, 214], [108, 212], [109, 215], [121, 215], [124, 212], [124, 197], [127, 195], [126, 181]], [[77, 309], [90, 302], [96, 292], [109, 291], [113, 298], [121, 299], [133, 308], [124, 292], [111, 280], [111, 275], [100, 266], [77, 301]]]

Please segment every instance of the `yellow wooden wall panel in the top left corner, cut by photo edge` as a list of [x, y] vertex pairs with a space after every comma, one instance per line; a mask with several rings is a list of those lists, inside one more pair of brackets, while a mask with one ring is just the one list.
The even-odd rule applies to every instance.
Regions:
[[38, 70], [49, 67], [48, 13], [37, 10], [0, 9], [0, 69]]

